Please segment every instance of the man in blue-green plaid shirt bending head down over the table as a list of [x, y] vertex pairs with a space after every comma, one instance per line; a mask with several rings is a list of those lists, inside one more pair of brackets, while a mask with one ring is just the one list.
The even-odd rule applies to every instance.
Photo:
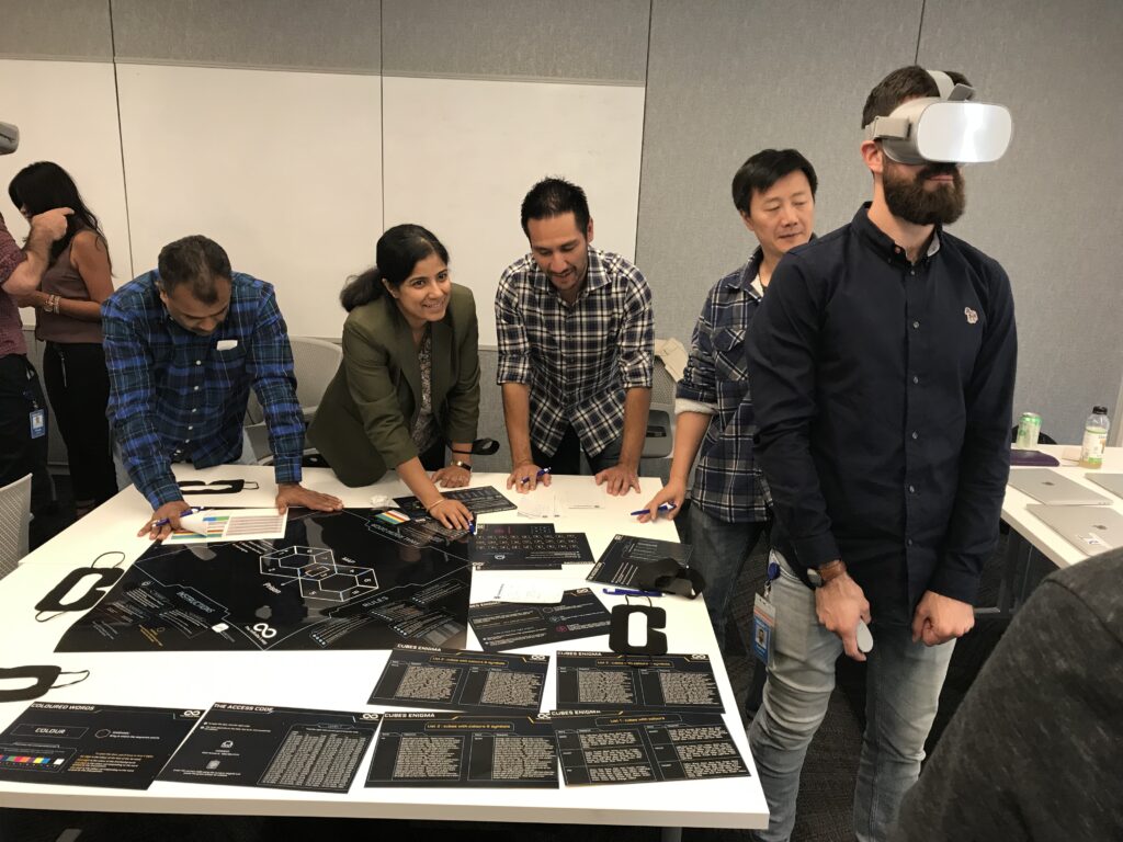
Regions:
[[270, 432], [277, 511], [343, 507], [300, 484], [304, 419], [271, 284], [231, 272], [213, 240], [185, 237], [164, 247], [158, 271], [115, 292], [101, 315], [110, 423], [124, 467], [153, 507], [137, 534], [166, 538], [180, 527], [188, 504], [172, 463], [252, 458], [243, 438], [250, 386]]

